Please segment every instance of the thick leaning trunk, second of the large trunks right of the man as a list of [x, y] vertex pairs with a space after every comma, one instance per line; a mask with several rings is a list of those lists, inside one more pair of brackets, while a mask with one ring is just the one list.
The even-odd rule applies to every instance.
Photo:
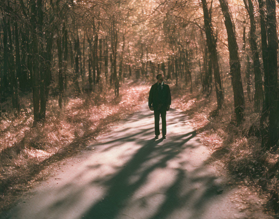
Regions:
[[227, 0], [219, 0], [228, 35], [230, 75], [234, 92], [234, 111], [237, 124], [242, 122], [245, 110], [244, 92], [240, 74], [240, 60], [236, 42], [234, 22], [229, 12]]

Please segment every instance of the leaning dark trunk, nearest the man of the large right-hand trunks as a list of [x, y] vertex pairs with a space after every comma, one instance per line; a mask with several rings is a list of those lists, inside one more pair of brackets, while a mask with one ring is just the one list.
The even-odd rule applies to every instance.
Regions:
[[202, 2], [202, 9], [204, 15], [204, 26], [206, 32], [206, 44], [210, 53], [210, 58], [213, 64], [213, 72], [214, 72], [214, 80], [215, 80], [215, 91], [217, 96], [217, 109], [221, 109], [224, 96], [219, 72], [219, 64], [218, 64], [218, 57], [217, 57], [217, 49], [216, 49], [216, 40], [213, 36], [212, 30], [212, 23], [211, 18], [209, 17], [208, 8], [206, 0], [201, 0]]

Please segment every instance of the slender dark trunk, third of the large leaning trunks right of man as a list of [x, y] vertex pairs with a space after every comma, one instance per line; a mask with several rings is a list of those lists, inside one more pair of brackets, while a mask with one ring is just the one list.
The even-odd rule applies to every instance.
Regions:
[[262, 91], [261, 64], [259, 59], [258, 46], [256, 43], [257, 36], [255, 34], [256, 24], [255, 24], [255, 17], [254, 17], [254, 6], [252, 0], [243, 0], [243, 1], [250, 18], [249, 43], [250, 43], [250, 48], [252, 50], [252, 59], [253, 59], [254, 75], [255, 75], [254, 110], [255, 112], [259, 113], [260, 107], [262, 106], [262, 102], [263, 102], [263, 91]]

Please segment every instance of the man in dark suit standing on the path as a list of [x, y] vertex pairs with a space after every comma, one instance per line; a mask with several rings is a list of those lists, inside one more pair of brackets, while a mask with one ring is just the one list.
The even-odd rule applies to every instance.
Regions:
[[166, 138], [167, 122], [166, 114], [171, 105], [171, 91], [169, 86], [164, 83], [162, 74], [156, 76], [157, 82], [151, 86], [149, 91], [148, 106], [150, 110], [154, 110], [155, 119], [155, 139], [158, 139], [160, 134], [159, 122], [160, 114], [162, 118], [162, 135]]

